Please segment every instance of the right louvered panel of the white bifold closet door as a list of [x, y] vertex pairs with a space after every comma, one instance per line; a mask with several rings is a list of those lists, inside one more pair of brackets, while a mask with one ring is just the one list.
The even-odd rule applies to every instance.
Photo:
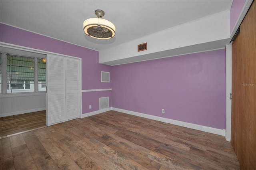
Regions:
[[66, 58], [66, 121], [80, 117], [80, 60]]

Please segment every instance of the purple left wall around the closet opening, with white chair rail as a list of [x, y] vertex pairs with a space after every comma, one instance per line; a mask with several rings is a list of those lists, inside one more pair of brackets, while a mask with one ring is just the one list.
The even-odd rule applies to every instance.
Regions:
[[[100, 71], [110, 72], [111, 67], [98, 63], [98, 51], [62, 42], [5, 24], [0, 24], [0, 42], [82, 58], [82, 90], [111, 88], [110, 83], [100, 82]], [[82, 113], [99, 110], [99, 99], [96, 99], [93, 95], [94, 93], [97, 97], [106, 97], [104, 95], [110, 95], [106, 92], [90, 92], [90, 95], [88, 95], [88, 92], [83, 92]], [[92, 109], [90, 110], [87, 109], [89, 108], [89, 105], [92, 105]]]

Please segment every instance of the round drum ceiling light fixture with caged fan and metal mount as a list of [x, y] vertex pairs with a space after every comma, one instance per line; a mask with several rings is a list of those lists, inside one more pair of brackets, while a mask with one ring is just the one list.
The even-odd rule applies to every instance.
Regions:
[[116, 34], [115, 25], [103, 19], [104, 11], [95, 10], [95, 14], [98, 18], [89, 18], [84, 21], [84, 32], [92, 38], [101, 40], [113, 38]]

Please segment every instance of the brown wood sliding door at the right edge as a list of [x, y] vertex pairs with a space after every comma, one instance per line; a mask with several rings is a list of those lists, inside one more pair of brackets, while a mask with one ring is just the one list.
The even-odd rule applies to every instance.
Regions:
[[256, 3], [232, 43], [231, 143], [242, 170], [256, 169]]

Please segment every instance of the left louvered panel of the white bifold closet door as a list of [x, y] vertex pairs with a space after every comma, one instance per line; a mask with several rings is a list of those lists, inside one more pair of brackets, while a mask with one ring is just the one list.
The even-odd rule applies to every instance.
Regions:
[[65, 57], [47, 56], [47, 125], [65, 121]]

